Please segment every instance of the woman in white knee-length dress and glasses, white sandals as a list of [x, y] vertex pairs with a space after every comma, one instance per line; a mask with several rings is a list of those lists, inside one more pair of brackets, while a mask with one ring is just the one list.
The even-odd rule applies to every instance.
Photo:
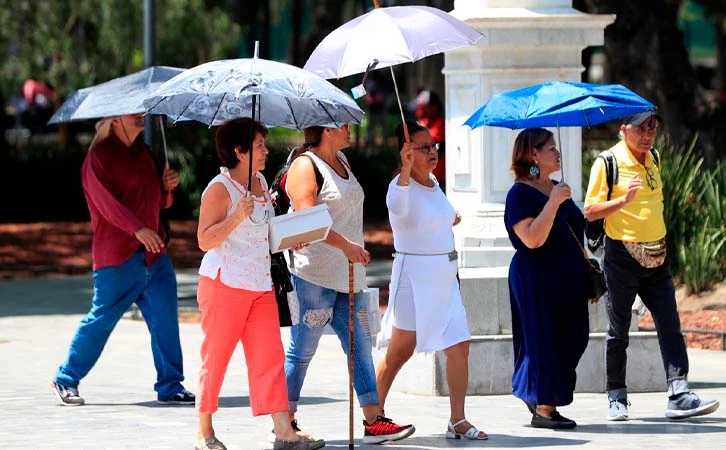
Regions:
[[411, 143], [405, 142], [399, 126], [402, 167], [386, 196], [396, 254], [381, 332], [388, 350], [376, 370], [378, 396], [384, 407], [393, 379], [414, 350], [441, 350], [446, 355], [451, 404], [446, 437], [484, 440], [487, 434], [466, 420], [464, 413], [471, 335], [451, 230], [461, 218], [432, 175], [439, 161], [438, 145], [425, 127], [406, 124]]

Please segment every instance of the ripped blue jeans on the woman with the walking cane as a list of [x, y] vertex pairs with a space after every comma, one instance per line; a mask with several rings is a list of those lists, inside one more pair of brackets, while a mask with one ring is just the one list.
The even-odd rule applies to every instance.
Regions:
[[[292, 276], [300, 317], [290, 330], [290, 346], [285, 353], [285, 377], [290, 412], [297, 411], [300, 391], [310, 361], [318, 349], [320, 336], [328, 323], [338, 335], [348, 355], [348, 294], [327, 289]], [[377, 405], [376, 370], [371, 357], [371, 336], [368, 326], [368, 304], [361, 292], [355, 295], [355, 329], [353, 334], [353, 387], [360, 406]], [[363, 321], [361, 321], [363, 317]], [[347, 362], [347, 359], [346, 359]]]

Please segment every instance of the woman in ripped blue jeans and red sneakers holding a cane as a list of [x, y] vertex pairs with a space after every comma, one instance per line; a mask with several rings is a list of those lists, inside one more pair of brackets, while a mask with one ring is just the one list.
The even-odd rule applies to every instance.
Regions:
[[[287, 174], [286, 191], [291, 208], [301, 210], [325, 203], [333, 226], [324, 241], [293, 252], [292, 273], [299, 313], [292, 317], [285, 375], [290, 411], [294, 414], [325, 325], [330, 324], [335, 330], [343, 350], [348, 353], [348, 261], [355, 263], [354, 388], [365, 416], [363, 442], [380, 444], [408, 437], [415, 429], [413, 425], [397, 425], [384, 417], [378, 401], [370, 327], [365, 322], [367, 301], [362, 295], [366, 287], [364, 266], [370, 262], [371, 255], [363, 247], [363, 189], [341, 151], [349, 146], [348, 125], [307, 128], [308, 151], [295, 159]], [[316, 181], [316, 167], [322, 175], [322, 186]], [[294, 416], [291, 419], [295, 420]]]

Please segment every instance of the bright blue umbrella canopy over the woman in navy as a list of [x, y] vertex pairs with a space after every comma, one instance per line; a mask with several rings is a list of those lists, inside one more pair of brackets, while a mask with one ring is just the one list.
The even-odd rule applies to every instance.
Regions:
[[591, 127], [653, 109], [648, 100], [619, 84], [553, 81], [493, 95], [464, 124], [511, 129]]

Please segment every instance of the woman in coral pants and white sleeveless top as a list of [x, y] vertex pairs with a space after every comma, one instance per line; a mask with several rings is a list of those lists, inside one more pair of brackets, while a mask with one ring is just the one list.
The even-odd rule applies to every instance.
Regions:
[[[325, 446], [322, 440], [299, 437], [289, 420], [280, 321], [270, 278], [267, 236], [273, 210], [260, 173], [268, 153], [265, 136], [267, 128], [248, 118], [222, 125], [216, 143], [224, 167], [202, 194], [197, 239], [206, 253], [199, 268], [197, 298], [204, 341], [196, 450], [226, 449], [214, 434], [212, 414], [219, 406], [227, 365], [240, 341], [248, 368], [252, 414], [272, 415], [274, 450]], [[248, 192], [250, 158], [253, 178]]]

